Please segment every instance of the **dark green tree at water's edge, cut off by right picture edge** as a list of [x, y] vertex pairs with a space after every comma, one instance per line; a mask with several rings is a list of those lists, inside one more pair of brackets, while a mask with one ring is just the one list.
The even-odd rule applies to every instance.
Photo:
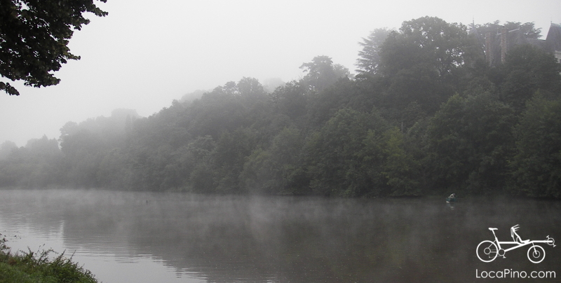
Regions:
[[529, 100], [515, 133], [511, 188], [534, 197], [561, 198], [561, 99]]

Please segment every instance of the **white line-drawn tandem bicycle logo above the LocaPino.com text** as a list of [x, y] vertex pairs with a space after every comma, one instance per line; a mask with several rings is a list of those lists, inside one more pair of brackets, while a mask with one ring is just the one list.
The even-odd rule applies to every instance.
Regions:
[[[503, 258], [505, 258], [504, 254], [506, 254], [507, 251], [518, 249], [519, 247], [524, 247], [528, 244], [532, 244], [532, 247], [528, 249], [529, 261], [532, 261], [532, 263], [541, 263], [541, 261], [543, 261], [543, 258], [546, 258], [546, 251], [543, 249], [543, 247], [537, 245], [536, 243], [546, 243], [550, 246], [555, 247], [555, 240], [553, 240], [553, 237], [549, 237], [549, 235], [547, 236], [547, 240], [522, 240], [516, 233], [516, 230], [518, 230], [518, 225], [511, 227], [511, 236], [513, 237], [514, 242], [499, 242], [499, 239], [497, 239], [495, 235], [495, 230], [498, 229], [489, 228], [489, 230], [491, 230], [491, 232], [493, 233], [495, 240], [485, 240], [483, 242], [480, 242], [476, 250], [478, 258], [484, 263], [494, 261], [497, 256], [502, 256]], [[503, 247], [501, 247], [501, 244], [515, 244], [515, 246], [508, 249], [503, 249]]]

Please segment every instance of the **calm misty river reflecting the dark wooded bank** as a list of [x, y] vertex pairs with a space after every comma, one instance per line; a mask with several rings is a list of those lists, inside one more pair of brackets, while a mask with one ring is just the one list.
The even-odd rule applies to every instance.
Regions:
[[475, 253], [489, 227], [501, 242], [516, 224], [523, 240], [561, 240], [560, 220], [543, 200], [0, 190], [8, 246], [66, 250], [106, 283], [561, 282], [561, 247], [541, 243], [541, 263], [531, 245]]

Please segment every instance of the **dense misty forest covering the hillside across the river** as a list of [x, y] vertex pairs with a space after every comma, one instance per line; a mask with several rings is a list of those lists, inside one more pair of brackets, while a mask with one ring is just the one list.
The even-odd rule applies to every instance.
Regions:
[[6, 141], [0, 186], [561, 198], [561, 64], [532, 44], [489, 64], [482, 39], [499, 28], [410, 20], [360, 42], [356, 76], [323, 55], [272, 91], [241, 78], [147, 118], [118, 109]]

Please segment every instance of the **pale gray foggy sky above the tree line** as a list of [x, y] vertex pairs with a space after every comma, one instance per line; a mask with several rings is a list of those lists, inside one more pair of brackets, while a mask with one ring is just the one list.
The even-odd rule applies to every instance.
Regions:
[[109, 15], [86, 15], [90, 24], [69, 43], [81, 60], [55, 73], [59, 85], [13, 83], [19, 97], [0, 93], [0, 143], [58, 138], [68, 121], [118, 108], [149, 116], [186, 93], [243, 76], [290, 81], [318, 55], [353, 71], [358, 41], [372, 29], [426, 15], [464, 25], [534, 22], [543, 39], [550, 22], [561, 23], [561, 0], [107, 0], [98, 6]]

